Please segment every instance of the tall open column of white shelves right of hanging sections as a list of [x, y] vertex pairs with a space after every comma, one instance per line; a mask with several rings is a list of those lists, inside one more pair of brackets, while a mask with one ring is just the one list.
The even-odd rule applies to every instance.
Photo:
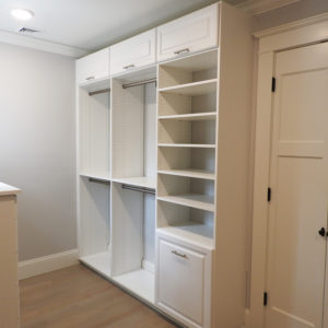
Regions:
[[159, 67], [157, 229], [213, 245], [218, 50]]

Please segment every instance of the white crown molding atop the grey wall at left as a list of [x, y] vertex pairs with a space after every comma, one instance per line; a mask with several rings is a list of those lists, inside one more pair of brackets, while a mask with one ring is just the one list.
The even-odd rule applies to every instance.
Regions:
[[86, 50], [0, 30], [0, 42], [36, 50], [80, 58]]

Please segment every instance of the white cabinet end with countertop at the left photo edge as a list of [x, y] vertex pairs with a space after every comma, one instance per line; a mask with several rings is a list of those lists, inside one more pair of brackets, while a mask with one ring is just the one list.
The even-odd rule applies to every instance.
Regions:
[[[1, 185], [7, 192], [17, 192]], [[3, 191], [4, 192], [4, 191]], [[0, 327], [20, 327], [20, 292], [17, 279], [16, 196], [0, 196]]]

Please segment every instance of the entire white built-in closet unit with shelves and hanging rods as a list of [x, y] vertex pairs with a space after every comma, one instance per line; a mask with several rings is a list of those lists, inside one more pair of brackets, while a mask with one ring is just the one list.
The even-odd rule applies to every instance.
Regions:
[[83, 263], [188, 327], [239, 327], [253, 37], [214, 3], [77, 61]]

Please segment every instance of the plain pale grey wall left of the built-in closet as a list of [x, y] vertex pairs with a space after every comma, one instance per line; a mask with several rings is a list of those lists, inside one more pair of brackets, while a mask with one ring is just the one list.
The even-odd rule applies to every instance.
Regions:
[[0, 180], [19, 196], [20, 260], [77, 247], [73, 59], [0, 44]]

